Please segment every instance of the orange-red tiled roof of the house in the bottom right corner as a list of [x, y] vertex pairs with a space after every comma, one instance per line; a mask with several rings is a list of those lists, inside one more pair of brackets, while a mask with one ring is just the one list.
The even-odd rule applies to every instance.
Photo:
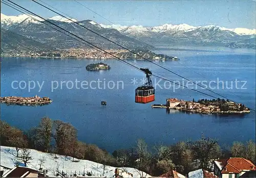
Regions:
[[255, 165], [244, 158], [228, 158], [217, 160], [222, 166], [221, 173], [241, 173], [242, 170], [255, 170]]

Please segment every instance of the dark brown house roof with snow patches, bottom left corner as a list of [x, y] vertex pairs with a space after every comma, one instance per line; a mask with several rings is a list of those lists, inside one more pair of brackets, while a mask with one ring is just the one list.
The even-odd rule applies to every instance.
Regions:
[[4, 173], [2, 177], [47, 177], [46, 172], [37, 171], [28, 167], [16, 166]]

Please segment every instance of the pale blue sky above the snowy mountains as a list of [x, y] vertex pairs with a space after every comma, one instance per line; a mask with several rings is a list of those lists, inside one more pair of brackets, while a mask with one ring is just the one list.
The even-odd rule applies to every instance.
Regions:
[[[43, 17], [56, 16], [32, 1], [13, 1]], [[75, 1], [44, 1], [77, 20], [91, 19], [97, 23], [109, 21]], [[214, 24], [226, 28], [255, 29], [255, 1], [79, 1], [106, 19], [126, 26], [159, 26], [164, 23], [187, 23], [191, 26]], [[39, 1], [40, 3], [40, 1]], [[1, 13], [20, 12], [1, 3]]]

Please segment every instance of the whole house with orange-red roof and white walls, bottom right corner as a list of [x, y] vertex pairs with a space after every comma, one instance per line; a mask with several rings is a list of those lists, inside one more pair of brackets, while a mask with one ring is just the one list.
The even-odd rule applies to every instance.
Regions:
[[255, 165], [244, 158], [228, 158], [214, 161], [214, 172], [222, 178], [242, 177], [243, 174], [248, 174], [250, 171], [255, 171]]

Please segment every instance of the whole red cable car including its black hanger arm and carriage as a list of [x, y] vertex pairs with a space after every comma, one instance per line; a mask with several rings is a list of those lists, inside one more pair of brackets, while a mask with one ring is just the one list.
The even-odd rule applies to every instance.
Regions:
[[155, 100], [155, 88], [150, 79], [152, 72], [147, 68], [140, 70], [146, 73], [147, 82], [135, 90], [135, 103], [150, 103]]

